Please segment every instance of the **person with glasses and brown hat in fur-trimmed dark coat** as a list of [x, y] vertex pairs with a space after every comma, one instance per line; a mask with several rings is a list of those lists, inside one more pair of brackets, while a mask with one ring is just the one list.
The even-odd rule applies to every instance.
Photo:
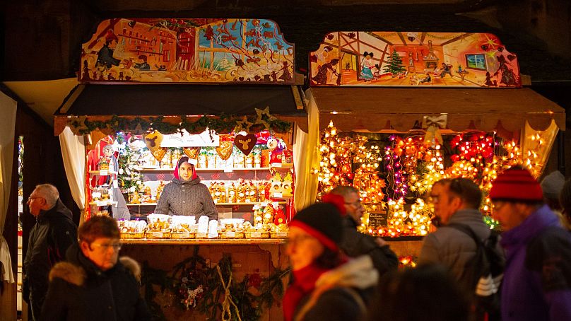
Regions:
[[49, 272], [42, 320], [151, 320], [139, 293], [141, 267], [119, 258], [117, 221], [95, 216], [78, 230], [79, 244]]

